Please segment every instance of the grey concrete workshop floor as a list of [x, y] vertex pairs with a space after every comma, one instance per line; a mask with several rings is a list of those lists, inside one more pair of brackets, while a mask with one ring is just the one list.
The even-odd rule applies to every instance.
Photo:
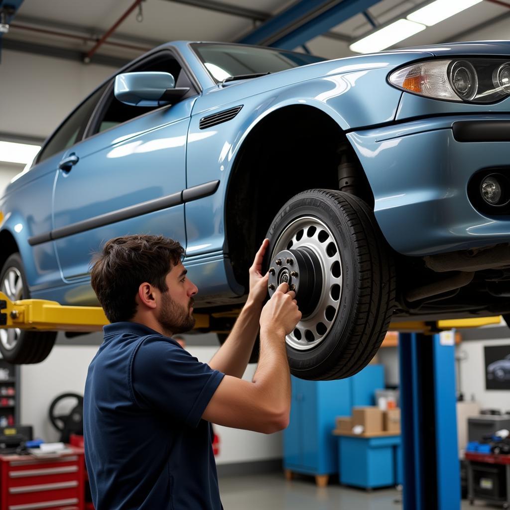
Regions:
[[[401, 494], [395, 489], [366, 492], [331, 483], [317, 488], [312, 477], [286, 481], [283, 473], [220, 477], [221, 501], [225, 510], [402, 510]], [[498, 508], [479, 502], [468, 508]], [[501, 508], [501, 506], [499, 506]], [[451, 509], [453, 510], [453, 509]]]

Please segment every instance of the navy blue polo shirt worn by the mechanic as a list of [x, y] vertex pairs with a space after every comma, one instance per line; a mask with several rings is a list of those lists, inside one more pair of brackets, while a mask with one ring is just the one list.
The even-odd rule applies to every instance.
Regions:
[[83, 414], [96, 510], [220, 510], [212, 426], [201, 416], [224, 374], [142, 324], [104, 333]]

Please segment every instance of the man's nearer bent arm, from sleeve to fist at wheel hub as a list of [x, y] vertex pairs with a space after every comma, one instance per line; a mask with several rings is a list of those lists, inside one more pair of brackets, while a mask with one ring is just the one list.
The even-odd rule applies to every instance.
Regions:
[[260, 359], [252, 381], [225, 375], [203, 419], [264, 433], [287, 427], [291, 384], [285, 337], [301, 319], [295, 293], [287, 289], [280, 285], [262, 311]]

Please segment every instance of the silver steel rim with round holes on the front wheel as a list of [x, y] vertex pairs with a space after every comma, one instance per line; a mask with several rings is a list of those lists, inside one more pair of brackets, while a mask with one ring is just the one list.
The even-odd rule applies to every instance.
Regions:
[[318, 218], [303, 216], [289, 223], [276, 240], [271, 259], [279, 251], [300, 247], [308, 247], [314, 251], [321, 265], [323, 281], [319, 303], [314, 311], [303, 317], [285, 339], [287, 345], [302, 351], [322, 343], [335, 323], [343, 293], [343, 267], [340, 249], [333, 233]]

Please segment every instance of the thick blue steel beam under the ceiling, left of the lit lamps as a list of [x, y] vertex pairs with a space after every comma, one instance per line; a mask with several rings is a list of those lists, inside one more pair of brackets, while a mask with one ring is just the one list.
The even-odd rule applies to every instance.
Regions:
[[363, 13], [379, 0], [301, 0], [237, 42], [293, 49]]

